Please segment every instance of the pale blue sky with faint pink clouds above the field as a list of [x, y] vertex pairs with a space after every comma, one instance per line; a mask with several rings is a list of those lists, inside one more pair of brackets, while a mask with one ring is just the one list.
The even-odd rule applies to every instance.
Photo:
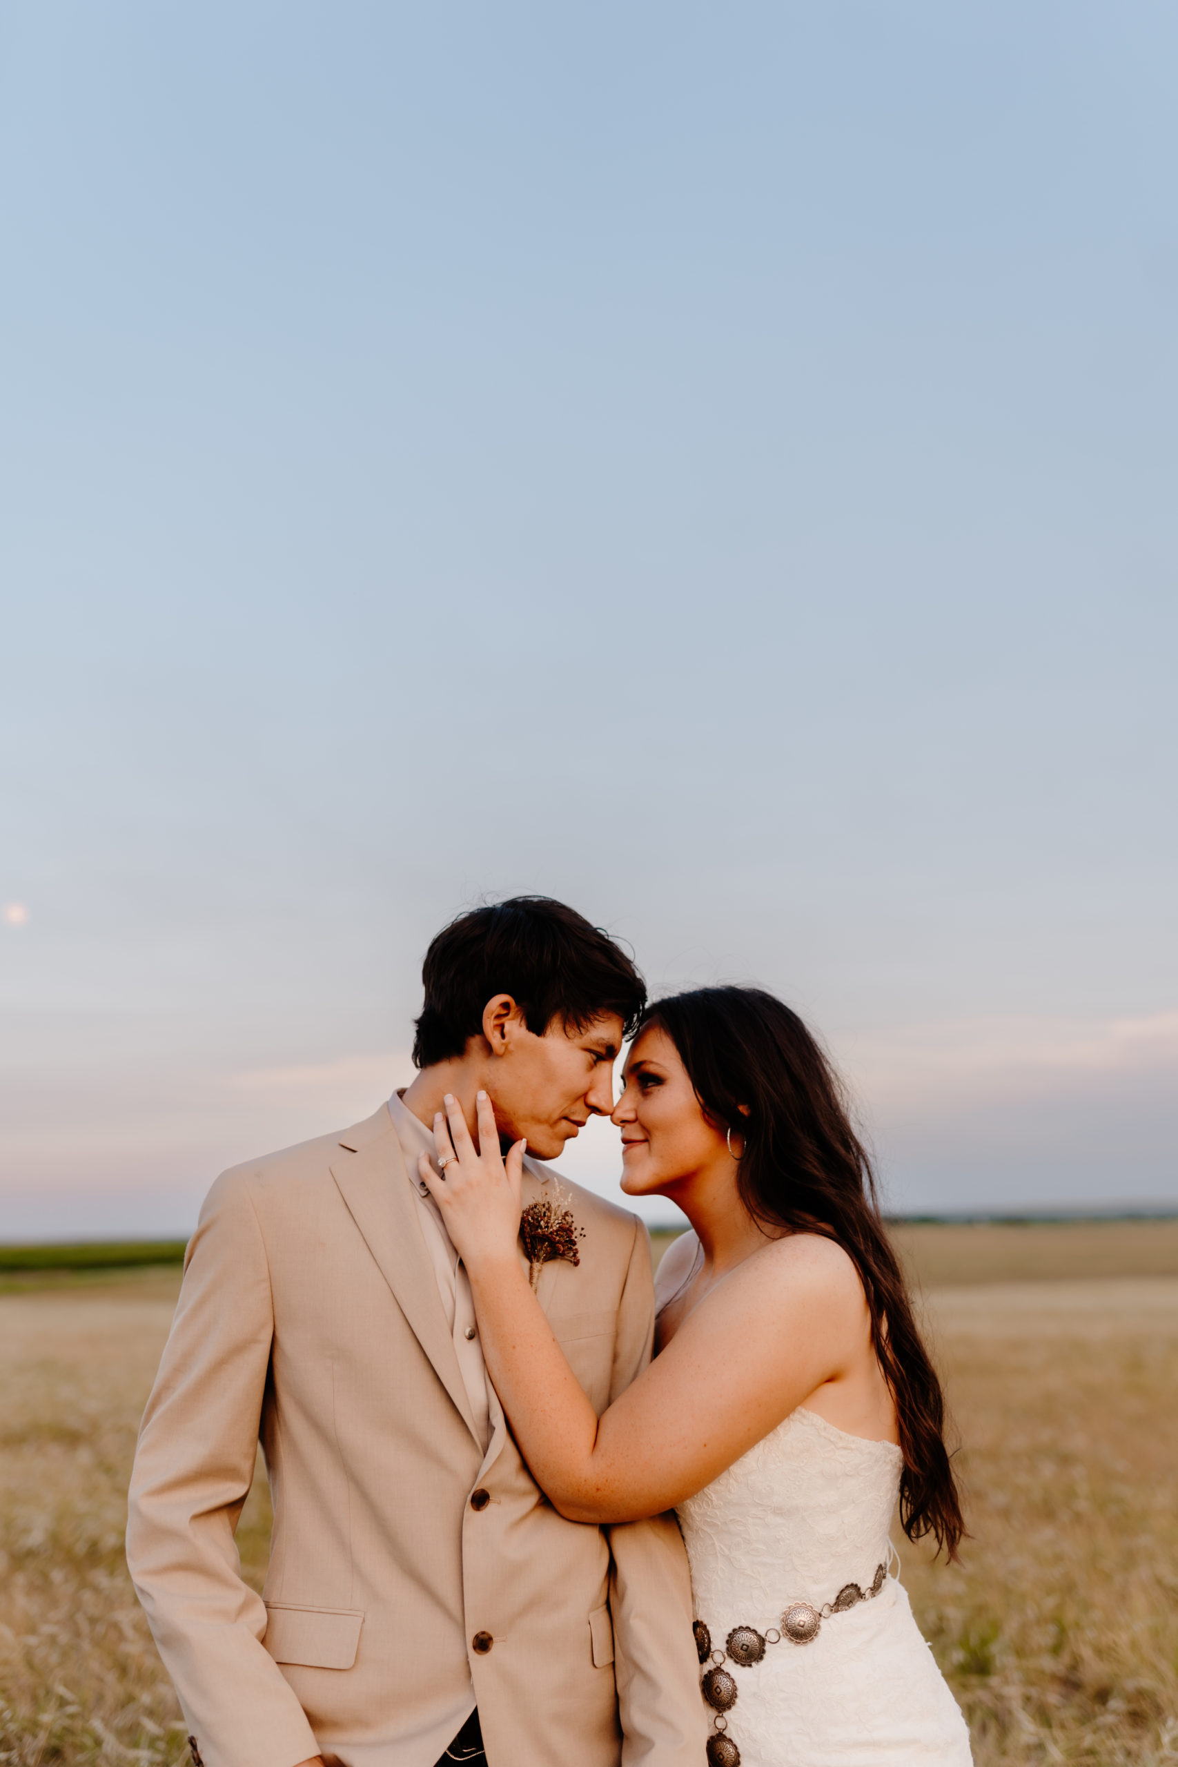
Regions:
[[9, 7], [0, 1237], [367, 1113], [519, 889], [798, 1005], [895, 1207], [1178, 1202], [1176, 67]]

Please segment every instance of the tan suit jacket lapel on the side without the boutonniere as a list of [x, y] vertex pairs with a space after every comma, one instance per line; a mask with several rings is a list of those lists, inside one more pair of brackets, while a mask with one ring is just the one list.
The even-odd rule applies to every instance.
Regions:
[[339, 1159], [332, 1163], [332, 1177], [397, 1306], [433, 1362], [438, 1380], [479, 1440], [392, 1122], [389, 1134], [381, 1134], [357, 1154], [341, 1150]]

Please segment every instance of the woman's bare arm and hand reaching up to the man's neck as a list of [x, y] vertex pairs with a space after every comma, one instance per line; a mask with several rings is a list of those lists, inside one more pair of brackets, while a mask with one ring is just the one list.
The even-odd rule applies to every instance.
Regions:
[[[445, 1131], [449, 1127], [449, 1136]], [[503, 1410], [555, 1507], [572, 1521], [634, 1521], [671, 1509], [768, 1435], [848, 1366], [867, 1308], [851, 1260], [828, 1240], [770, 1240], [715, 1285], [671, 1345], [599, 1419], [519, 1263], [523, 1143], [503, 1164], [479, 1101], [475, 1150], [457, 1104], [438, 1124], [454, 1156], [422, 1156], [479, 1315]]]

